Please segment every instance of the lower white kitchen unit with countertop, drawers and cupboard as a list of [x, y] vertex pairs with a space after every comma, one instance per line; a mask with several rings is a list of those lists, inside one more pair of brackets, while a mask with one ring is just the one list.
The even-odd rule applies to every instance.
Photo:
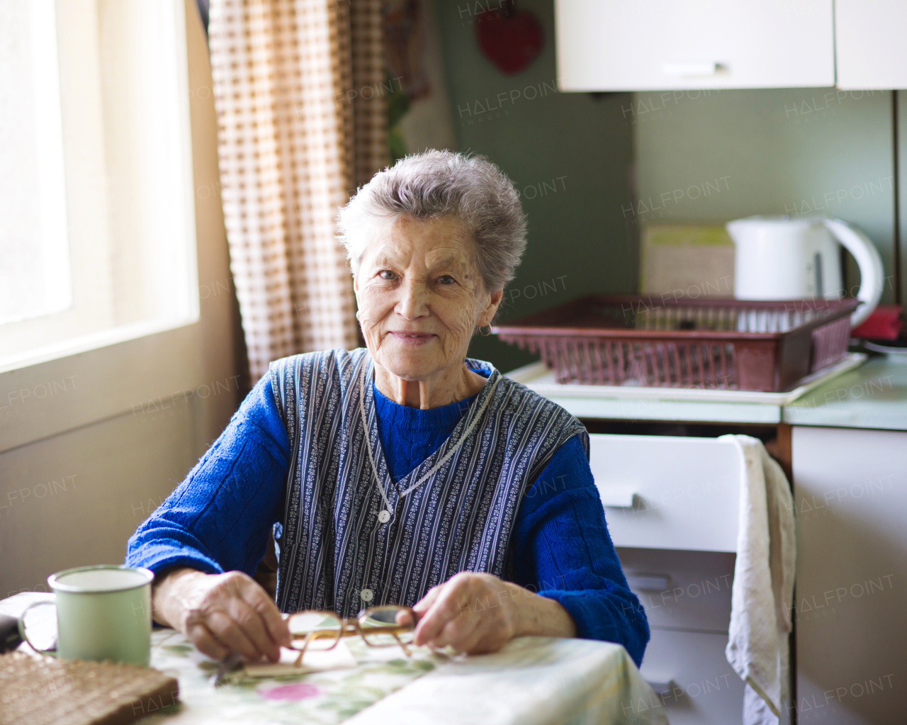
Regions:
[[[514, 377], [590, 427], [708, 424], [718, 435], [748, 424], [776, 434], [793, 466], [797, 526], [796, 704], [782, 723], [907, 721], [907, 361], [870, 359], [795, 402], [669, 390], [632, 399], [596, 386], [582, 395], [530, 367]], [[731, 486], [715, 484], [724, 449], [699, 437], [590, 440], [610, 532], [652, 628], [643, 674], [674, 725], [739, 722], [743, 686], [725, 677], [723, 659], [735, 559]]]

